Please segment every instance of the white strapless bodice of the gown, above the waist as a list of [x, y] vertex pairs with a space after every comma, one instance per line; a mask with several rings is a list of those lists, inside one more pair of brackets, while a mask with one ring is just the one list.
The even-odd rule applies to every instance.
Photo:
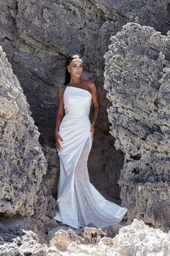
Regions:
[[67, 86], [63, 101], [66, 115], [89, 116], [91, 93], [88, 90]]

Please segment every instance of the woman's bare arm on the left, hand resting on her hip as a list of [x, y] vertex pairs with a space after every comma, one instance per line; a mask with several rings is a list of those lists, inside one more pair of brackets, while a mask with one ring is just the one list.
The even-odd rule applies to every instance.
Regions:
[[61, 121], [64, 116], [63, 92], [64, 92], [63, 86], [58, 88], [58, 110], [55, 118], [55, 145], [59, 149], [61, 148], [61, 144], [60, 142], [58, 142], [58, 140], [63, 141], [61, 135], [59, 135], [58, 133], [58, 129], [60, 127]]

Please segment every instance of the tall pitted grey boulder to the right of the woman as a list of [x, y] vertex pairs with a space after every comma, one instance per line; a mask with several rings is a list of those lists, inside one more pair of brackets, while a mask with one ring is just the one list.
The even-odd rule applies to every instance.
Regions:
[[115, 148], [125, 153], [120, 176], [128, 218], [170, 227], [170, 36], [128, 23], [105, 54], [104, 88]]

